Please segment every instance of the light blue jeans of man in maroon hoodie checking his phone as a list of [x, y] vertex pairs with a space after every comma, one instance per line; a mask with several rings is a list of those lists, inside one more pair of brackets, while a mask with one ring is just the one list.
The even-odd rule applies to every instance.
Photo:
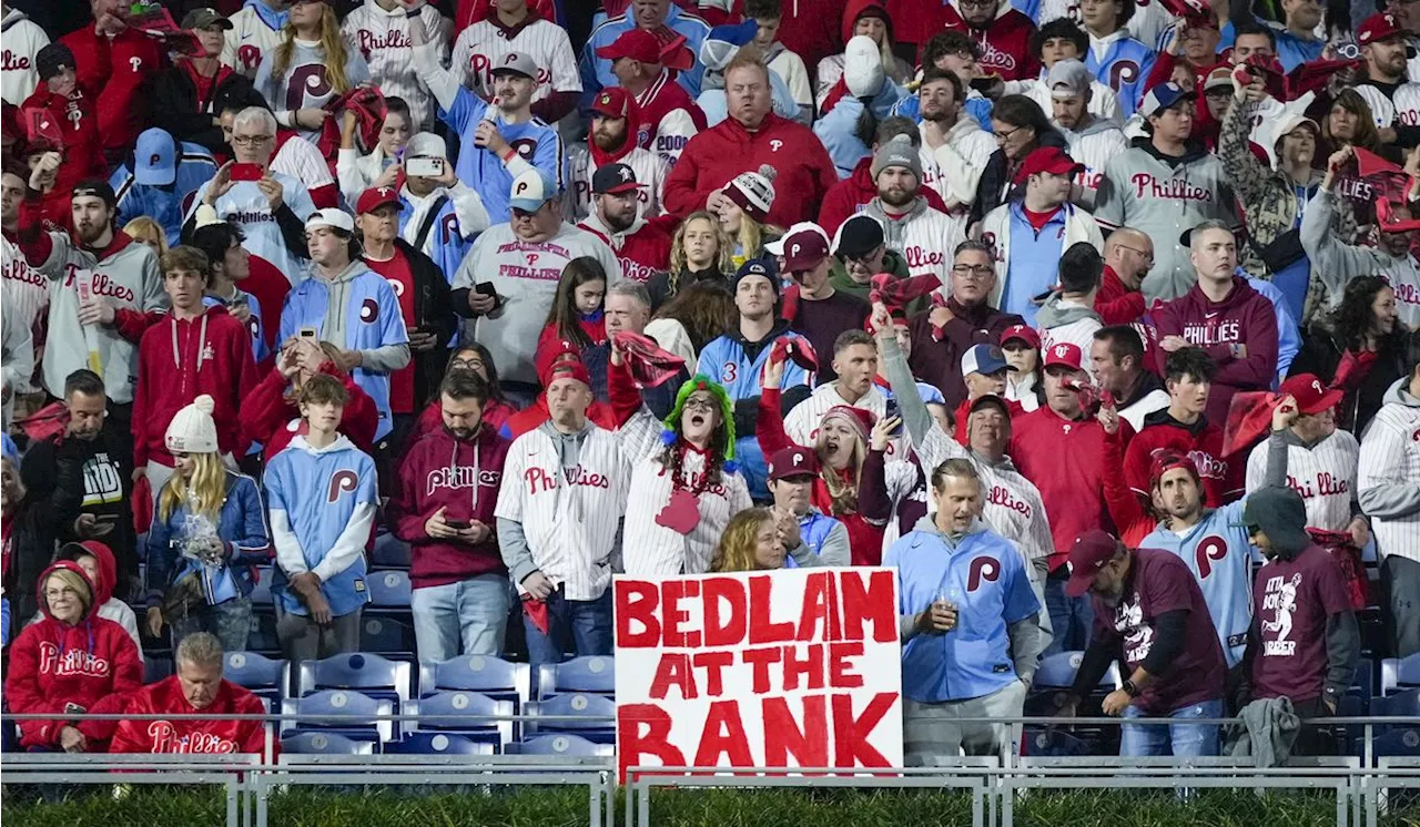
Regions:
[[508, 576], [500, 573], [415, 589], [409, 607], [420, 662], [437, 664], [460, 654], [501, 655], [511, 590]]

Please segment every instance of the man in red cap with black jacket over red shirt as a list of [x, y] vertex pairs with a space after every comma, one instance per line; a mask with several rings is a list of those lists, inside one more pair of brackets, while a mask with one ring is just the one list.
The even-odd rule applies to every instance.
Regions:
[[400, 453], [415, 413], [437, 392], [449, 363], [449, 342], [457, 331], [443, 271], [399, 237], [403, 201], [393, 187], [371, 187], [355, 206], [355, 226], [364, 238], [361, 258], [393, 288], [413, 353], [409, 365], [389, 376], [389, 407], [395, 416], [392, 455]]

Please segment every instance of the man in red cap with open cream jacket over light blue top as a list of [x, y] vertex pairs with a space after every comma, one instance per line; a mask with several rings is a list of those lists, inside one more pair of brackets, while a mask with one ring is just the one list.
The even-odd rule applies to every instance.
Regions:
[[1055, 285], [1061, 254], [1081, 241], [1105, 248], [1095, 217], [1069, 203], [1071, 183], [1083, 169], [1065, 150], [1042, 146], [1015, 173], [1021, 199], [981, 220], [981, 240], [995, 247], [991, 302], [1028, 325], [1035, 325], [1038, 301]]

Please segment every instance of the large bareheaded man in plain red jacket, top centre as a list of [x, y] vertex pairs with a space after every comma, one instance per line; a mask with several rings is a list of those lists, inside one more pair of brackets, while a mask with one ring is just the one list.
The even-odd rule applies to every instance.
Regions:
[[790, 227], [811, 220], [838, 183], [824, 143], [808, 126], [770, 111], [770, 70], [754, 47], [741, 47], [726, 67], [724, 89], [730, 116], [686, 145], [666, 179], [666, 211], [682, 217], [700, 209], [719, 211], [734, 176], [768, 165], [778, 174], [767, 223]]

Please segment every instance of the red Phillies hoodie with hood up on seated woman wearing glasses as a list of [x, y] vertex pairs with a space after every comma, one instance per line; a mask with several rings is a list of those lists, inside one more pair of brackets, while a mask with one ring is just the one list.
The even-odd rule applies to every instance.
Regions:
[[[89, 583], [78, 563], [60, 560], [45, 569], [36, 584], [44, 618], [27, 626], [10, 648], [6, 704], [17, 715], [53, 714], [55, 718], [21, 721], [21, 746], [58, 745], [60, 731], [72, 725], [74, 715], [92, 709], [108, 695], [132, 692], [143, 684], [138, 645], [122, 626], [95, 614], [97, 603], [89, 604], [75, 626], [50, 614], [44, 583], [58, 569], [74, 572]], [[92, 583], [89, 592], [95, 592]]]

